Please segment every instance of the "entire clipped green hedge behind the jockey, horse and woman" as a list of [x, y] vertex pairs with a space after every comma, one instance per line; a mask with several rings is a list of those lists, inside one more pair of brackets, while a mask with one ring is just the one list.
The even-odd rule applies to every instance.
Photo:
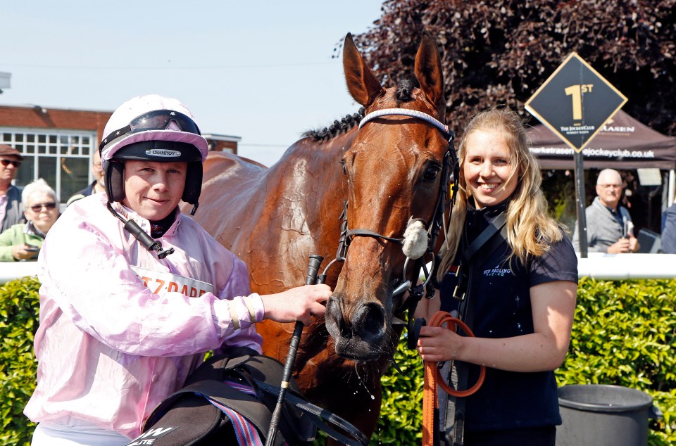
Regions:
[[[32, 340], [39, 302], [35, 279], [0, 287], [0, 445], [30, 445], [34, 425], [23, 407], [35, 387]], [[595, 281], [582, 279], [568, 357], [556, 371], [560, 386], [615, 384], [649, 393], [663, 412], [651, 420], [649, 445], [676, 444], [676, 279]], [[383, 404], [372, 445], [419, 445], [423, 365], [399, 343], [382, 378]]]

